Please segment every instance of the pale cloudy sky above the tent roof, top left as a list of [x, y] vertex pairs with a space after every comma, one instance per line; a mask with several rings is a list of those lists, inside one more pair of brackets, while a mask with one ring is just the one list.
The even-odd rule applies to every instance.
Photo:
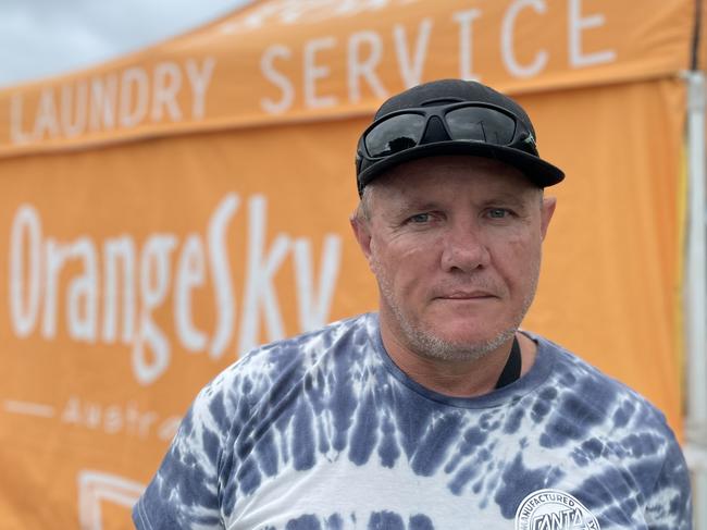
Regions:
[[0, 87], [101, 63], [251, 0], [0, 0]]

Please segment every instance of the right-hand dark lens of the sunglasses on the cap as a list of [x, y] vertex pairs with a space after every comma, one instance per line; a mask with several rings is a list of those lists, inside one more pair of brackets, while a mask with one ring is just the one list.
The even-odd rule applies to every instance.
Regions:
[[507, 146], [516, 133], [516, 121], [494, 109], [462, 107], [447, 112], [445, 119], [449, 134], [457, 140]]

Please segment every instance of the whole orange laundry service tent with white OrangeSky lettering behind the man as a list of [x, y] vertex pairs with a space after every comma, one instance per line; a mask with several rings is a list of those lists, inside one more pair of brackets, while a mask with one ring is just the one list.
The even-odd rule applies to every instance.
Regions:
[[264, 0], [0, 90], [0, 527], [132, 528], [203, 384], [375, 308], [356, 141], [438, 77], [517, 97], [567, 172], [523, 325], [680, 433], [694, 25], [692, 0]]

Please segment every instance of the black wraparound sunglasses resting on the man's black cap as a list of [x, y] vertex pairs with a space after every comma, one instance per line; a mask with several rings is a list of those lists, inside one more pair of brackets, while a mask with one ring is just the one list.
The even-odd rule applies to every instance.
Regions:
[[[392, 112], [374, 121], [361, 136], [359, 153], [383, 159], [421, 144], [430, 120], [437, 116], [451, 140], [512, 147], [537, 157], [535, 138], [513, 113], [489, 103], [460, 102]], [[423, 141], [424, 140], [424, 141]]]

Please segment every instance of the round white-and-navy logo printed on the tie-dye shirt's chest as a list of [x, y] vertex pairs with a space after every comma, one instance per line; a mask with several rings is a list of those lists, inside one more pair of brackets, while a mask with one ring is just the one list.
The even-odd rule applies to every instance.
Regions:
[[596, 517], [569, 493], [537, 490], [520, 503], [516, 530], [600, 530]]

